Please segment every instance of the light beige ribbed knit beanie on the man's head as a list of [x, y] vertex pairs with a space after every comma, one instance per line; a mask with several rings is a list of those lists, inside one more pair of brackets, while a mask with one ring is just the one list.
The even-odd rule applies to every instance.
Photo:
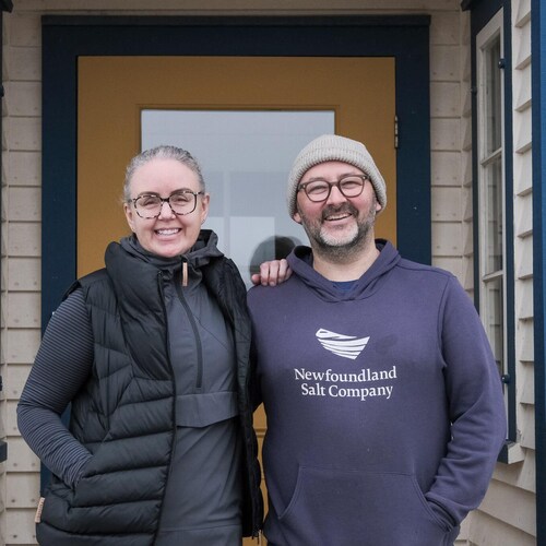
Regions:
[[307, 144], [299, 152], [288, 176], [288, 213], [294, 216], [296, 209], [296, 194], [302, 176], [314, 165], [324, 162], [348, 163], [369, 176], [376, 190], [376, 197], [381, 205], [381, 211], [387, 206], [387, 187], [383, 177], [366, 146], [356, 140], [337, 134], [323, 134]]

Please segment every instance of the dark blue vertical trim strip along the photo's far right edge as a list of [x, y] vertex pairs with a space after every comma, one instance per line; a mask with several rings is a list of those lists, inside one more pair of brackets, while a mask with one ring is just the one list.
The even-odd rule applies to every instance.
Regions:
[[536, 544], [546, 546], [546, 4], [532, 0], [533, 289], [535, 327]]

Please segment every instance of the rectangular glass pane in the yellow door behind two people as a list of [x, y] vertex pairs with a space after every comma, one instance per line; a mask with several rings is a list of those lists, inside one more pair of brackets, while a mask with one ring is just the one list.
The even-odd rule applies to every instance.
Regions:
[[211, 193], [203, 227], [216, 232], [247, 286], [262, 261], [307, 244], [288, 216], [288, 171], [309, 141], [335, 131], [334, 111], [146, 109], [141, 123], [142, 150], [175, 145], [200, 163]]

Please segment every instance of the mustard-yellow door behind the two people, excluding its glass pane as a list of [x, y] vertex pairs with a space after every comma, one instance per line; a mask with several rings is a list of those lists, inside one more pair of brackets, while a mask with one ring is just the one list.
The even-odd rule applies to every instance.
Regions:
[[[394, 84], [392, 58], [80, 57], [78, 274], [102, 268], [107, 244], [128, 234], [122, 183], [144, 109], [333, 110], [335, 132], [363, 141], [387, 181], [377, 235], [395, 245]], [[261, 446], [261, 411], [256, 428]]]

